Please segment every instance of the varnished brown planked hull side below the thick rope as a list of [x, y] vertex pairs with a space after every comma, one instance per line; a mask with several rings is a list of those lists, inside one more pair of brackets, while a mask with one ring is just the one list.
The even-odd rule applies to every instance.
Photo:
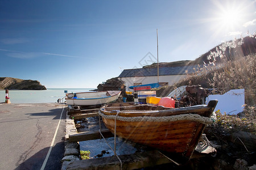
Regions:
[[[105, 118], [102, 118], [102, 120], [105, 126], [113, 133], [114, 120], [107, 120]], [[190, 157], [197, 145], [203, 127], [203, 124], [192, 121], [117, 121], [117, 135], [129, 141]]]

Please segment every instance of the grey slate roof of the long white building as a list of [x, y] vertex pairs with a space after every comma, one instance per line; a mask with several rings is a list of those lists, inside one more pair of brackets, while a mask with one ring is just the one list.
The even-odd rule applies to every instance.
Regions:
[[[159, 76], [161, 75], [184, 75], [194, 73], [198, 65], [180, 66], [180, 67], [159, 67]], [[135, 77], [135, 76], [157, 76], [157, 68], [141, 68], [141, 69], [126, 69], [118, 77]]]

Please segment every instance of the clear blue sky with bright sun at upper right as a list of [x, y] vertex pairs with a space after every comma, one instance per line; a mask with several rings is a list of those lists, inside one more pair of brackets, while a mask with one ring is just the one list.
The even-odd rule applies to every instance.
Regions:
[[172, 62], [252, 34], [255, 24], [255, 0], [1, 0], [0, 77], [96, 88], [156, 61], [156, 29], [159, 62]]

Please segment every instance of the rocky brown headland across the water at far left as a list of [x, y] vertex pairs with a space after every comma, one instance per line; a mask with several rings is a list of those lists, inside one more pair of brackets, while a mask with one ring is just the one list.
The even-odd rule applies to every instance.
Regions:
[[0, 89], [15, 90], [46, 90], [37, 80], [23, 80], [10, 77], [0, 78]]

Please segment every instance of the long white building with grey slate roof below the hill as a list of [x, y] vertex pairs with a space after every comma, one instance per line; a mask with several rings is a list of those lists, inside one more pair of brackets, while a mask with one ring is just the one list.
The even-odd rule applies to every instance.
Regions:
[[[159, 84], [171, 86], [188, 74], [194, 72], [194, 68], [198, 66], [179, 66], [179, 67], [159, 67]], [[186, 73], [187, 70], [187, 73]], [[138, 86], [143, 84], [151, 84], [158, 82], [157, 68], [141, 68], [126, 69], [118, 76], [119, 80], [125, 81], [126, 90], [129, 91], [130, 86]]]

